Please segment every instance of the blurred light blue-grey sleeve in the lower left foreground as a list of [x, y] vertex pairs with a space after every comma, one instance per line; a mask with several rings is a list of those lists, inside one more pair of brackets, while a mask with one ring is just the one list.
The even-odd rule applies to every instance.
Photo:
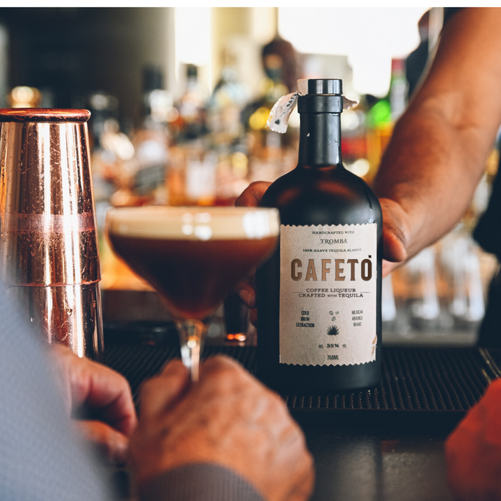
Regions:
[[74, 434], [38, 326], [0, 284], [0, 500], [109, 501], [104, 471]]

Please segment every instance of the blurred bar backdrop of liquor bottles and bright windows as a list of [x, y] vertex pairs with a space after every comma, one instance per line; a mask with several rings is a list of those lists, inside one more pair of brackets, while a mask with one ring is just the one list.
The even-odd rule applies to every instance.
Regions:
[[[296, 166], [299, 78], [341, 78], [344, 165], [369, 184], [443, 24], [443, 8], [0, 8], [0, 106], [87, 108], [98, 225], [110, 205], [232, 205]], [[472, 340], [495, 260], [471, 232], [498, 143], [459, 225], [383, 283], [385, 335]], [[148, 289], [102, 238], [104, 289]], [[440, 334], [441, 335], [441, 334]], [[459, 337], [458, 337], [459, 336]], [[466, 339], [466, 338], [465, 338]]]

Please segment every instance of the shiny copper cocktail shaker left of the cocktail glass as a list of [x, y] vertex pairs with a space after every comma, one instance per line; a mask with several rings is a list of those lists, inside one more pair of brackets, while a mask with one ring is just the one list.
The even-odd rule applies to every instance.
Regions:
[[0, 109], [0, 280], [49, 342], [100, 360], [87, 110]]

